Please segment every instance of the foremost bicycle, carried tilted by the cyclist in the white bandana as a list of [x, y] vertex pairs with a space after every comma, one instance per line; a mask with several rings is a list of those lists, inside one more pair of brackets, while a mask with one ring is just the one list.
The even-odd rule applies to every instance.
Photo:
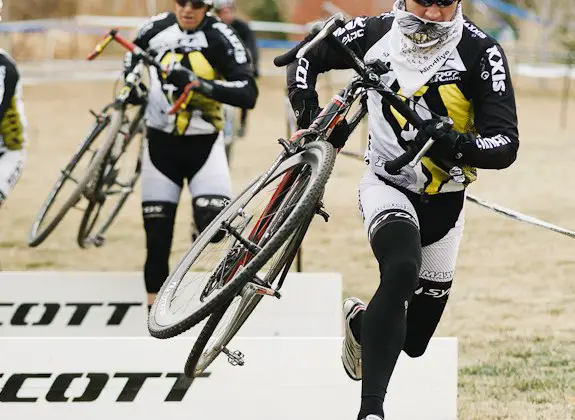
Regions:
[[[344, 23], [341, 14], [332, 16], [319, 32], [310, 33], [294, 49], [276, 57], [274, 64], [285, 66], [325, 40], [349, 58], [357, 75], [332, 97], [308, 129], [297, 131], [289, 141], [278, 140], [283, 150], [276, 160], [202, 232], [152, 305], [148, 330], [156, 338], [174, 337], [208, 318], [186, 361], [187, 376], [201, 374], [220, 353], [232, 365], [245, 363], [240, 351], [227, 346], [264, 296], [281, 298], [289, 267], [315, 215], [329, 220], [322, 197], [337, 152], [327, 139], [352, 105], [360, 99], [348, 122], [351, 132], [367, 113], [363, 98], [369, 90], [379, 92], [414, 127], [423, 124], [414, 109], [381, 80], [380, 75], [388, 71], [383, 62], [363, 62], [332, 35]], [[408, 147], [403, 155], [385, 163], [386, 170], [397, 174], [406, 165], [415, 166], [433, 142], [428, 139], [421, 148]], [[260, 193], [270, 197], [261, 198]], [[222, 245], [210, 245], [210, 239], [221, 231], [225, 232]], [[217, 252], [220, 255], [214, 257]]]

